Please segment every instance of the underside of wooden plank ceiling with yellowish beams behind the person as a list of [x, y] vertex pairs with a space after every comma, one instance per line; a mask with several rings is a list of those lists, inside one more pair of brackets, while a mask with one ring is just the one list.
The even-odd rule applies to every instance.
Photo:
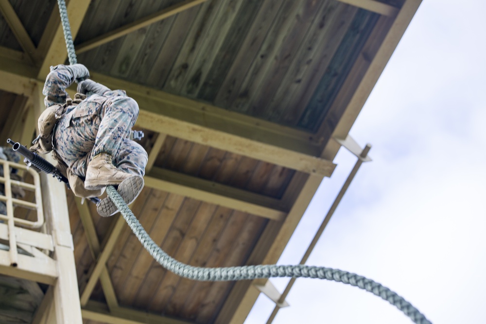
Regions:
[[[70, 0], [78, 62], [139, 103], [132, 210], [156, 243], [196, 266], [277, 262], [419, 3]], [[0, 9], [0, 140], [26, 143], [64, 38], [53, 0]], [[244, 321], [261, 281], [181, 279], [67, 195], [85, 323]]]

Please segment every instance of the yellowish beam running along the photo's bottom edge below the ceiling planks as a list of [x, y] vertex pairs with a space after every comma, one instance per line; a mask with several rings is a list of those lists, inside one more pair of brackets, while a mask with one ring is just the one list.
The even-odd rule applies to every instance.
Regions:
[[119, 307], [108, 311], [106, 306], [99, 302], [89, 301], [81, 310], [85, 320], [103, 322], [108, 324], [189, 324], [190, 322], [163, 317], [130, 308]]

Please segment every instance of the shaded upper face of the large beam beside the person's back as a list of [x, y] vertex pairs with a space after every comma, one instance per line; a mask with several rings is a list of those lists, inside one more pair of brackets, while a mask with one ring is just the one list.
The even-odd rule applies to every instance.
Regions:
[[[312, 133], [232, 112], [205, 102], [198, 102], [96, 72], [91, 73], [91, 78], [111, 89], [127, 90], [128, 95], [139, 103], [139, 119], [143, 119], [143, 121], [140, 119], [137, 123], [140, 127], [144, 127], [145, 124], [147, 124], [147, 127], [157, 127], [153, 122], [147, 120], [152, 116], [148, 113], [154, 113], [278, 148], [306, 155], [319, 156], [319, 145], [322, 142], [314, 138]], [[161, 130], [162, 128], [158, 128], [155, 131], [158, 133]], [[172, 135], [165, 129], [163, 131], [164, 134]], [[194, 132], [196, 131], [197, 128]]]

